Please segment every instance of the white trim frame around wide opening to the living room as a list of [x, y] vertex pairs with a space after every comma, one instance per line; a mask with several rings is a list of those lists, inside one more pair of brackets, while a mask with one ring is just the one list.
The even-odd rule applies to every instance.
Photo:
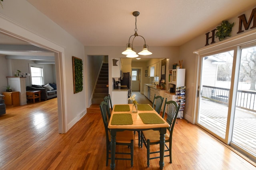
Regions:
[[63, 60], [64, 48], [56, 43], [46, 39], [42, 35], [31, 31], [30, 29], [11, 21], [8, 18], [0, 15], [0, 33], [4, 33], [10, 37], [26, 41], [31, 45], [36, 45], [40, 48], [47, 49], [54, 52], [55, 57], [55, 69], [56, 69], [56, 83], [58, 88], [58, 132], [66, 133], [68, 131], [68, 125], [66, 123], [67, 113], [66, 105], [64, 102], [64, 82], [65, 76], [63, 76]]

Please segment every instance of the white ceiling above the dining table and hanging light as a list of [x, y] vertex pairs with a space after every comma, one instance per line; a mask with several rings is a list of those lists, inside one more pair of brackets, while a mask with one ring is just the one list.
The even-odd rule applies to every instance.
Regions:
[[[149, 46], [180, 46], [221, 21], [256, 5], [255, 0], [27, 0], [85, 46], [124, 46], [138, 34]], [[0, 35], [0, 45], [27, 44]], [[134, 46], [142, 46], [136, 37]], [[3, 53], [0, 49], [0, 54]], [[17, 52], [17, 51], [16, 51]], [[35, 55], [35, 51], [34, 54]]]

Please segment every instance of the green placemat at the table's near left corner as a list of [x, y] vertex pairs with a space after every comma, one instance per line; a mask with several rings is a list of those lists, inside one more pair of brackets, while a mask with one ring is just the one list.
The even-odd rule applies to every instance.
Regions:
[[111, 125], [132, 125], [132, 115], [130, 113], [116, 113], [112, 116]]

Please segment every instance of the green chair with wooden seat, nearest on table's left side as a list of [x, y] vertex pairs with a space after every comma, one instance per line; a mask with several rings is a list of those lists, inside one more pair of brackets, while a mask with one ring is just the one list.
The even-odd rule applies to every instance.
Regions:
[[[111, 159], [109, 156], [110, 152], [110, 129], [108, 129], [108, 118], [107, 118], [107, 111], [109, 110], [109, 106], [106, 102], [100, 103], [100, 112], [102, 115], [102, 120], [105, 127], [106, 133], [106, 166], [108, 166], [108, 160]], [[116, 152], [116, 154], [125, 154], [130, 155], [130, 158], [115, 158], [116, 160], [130, 160], [131, 166], [133, 166], [133, 133], [132, 131], [121, 131], [116, 132], [116, 145], [127, 145], [130, 149], [130, 152]]]

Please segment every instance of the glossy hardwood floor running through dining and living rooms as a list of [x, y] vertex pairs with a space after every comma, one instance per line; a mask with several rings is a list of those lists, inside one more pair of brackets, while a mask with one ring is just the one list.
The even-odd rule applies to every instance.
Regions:
[[[87, 113], [68, 133], [58, 134], [56, 98], [7, 108], [7, 113], [0, 116], [0, 169], [109, 170], [104, 126], [99, 109], [95, 110], [98, 112]], [[116, 170], [159, 169], [158, 159], [150, 160], [147, 168], [146, 148], [138, 148], [138, 133], [134, 142], [133, 168], [128, 160], [116, 160]], [[126, 149], [117, 147], [117, 151]], [[168, 157], [164, 158], [164, 170], [256, 169], [184, 119], [174, 127], [172, 156], [172, 164]]]

